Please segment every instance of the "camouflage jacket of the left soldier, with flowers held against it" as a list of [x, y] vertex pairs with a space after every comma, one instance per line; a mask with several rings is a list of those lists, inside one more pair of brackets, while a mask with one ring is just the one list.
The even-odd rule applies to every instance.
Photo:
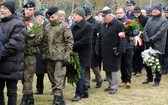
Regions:
[[37, 23], [33, 17], [25, 21], [25, 24], [27, 27], [25, 55], [35, 55], [38, 52], [37, 46], [41, 43], [43, 36], [43, 25]]

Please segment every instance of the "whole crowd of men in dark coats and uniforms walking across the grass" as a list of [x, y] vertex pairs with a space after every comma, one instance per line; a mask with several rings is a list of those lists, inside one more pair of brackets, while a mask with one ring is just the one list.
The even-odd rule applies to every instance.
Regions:
[[[96, 88], [101, 88], [105, 71], [109, 85], [104, 91], [116, 94], [118, 87], [131, 88], [131, 77], [139, 77], [146, 69], [147, 79], [160, 85], [162, 74], [168, 73], [168, 7], [156, 4], [141, 9], [132, 0], [127, 8], [112, 11], [105, 6], [97, 15], [89, 7], [77, 7], [66, 18], [64, 11], [52, 6], [37, 10], [34, 1], [27, 2], [24, 11], [16, 12], [13, 1], [0, 4], [0, 105], [5, 105], [7, 87], [8, 105], [17, 105], [17, 83], [22, 80], [20, 105], [34, 105], [33, 94], [43, 94], [43, 79], [47, 73], [51, 82], [52, 105], [66, 105], [63, 88], [70, 53], [77, 52], [81, 66], [72, 101], [89, 98], [90, 70], [93, 70]], [[135, 20], [141, 28], [126, 30], [125, 24]], [[138, 42], [133, 42], [138, 38]], [[138, 44], [135, 44], [138, 43]], [[152, 47], [159, 51], [163, 71], [143, 64], [141, 52]], [[101, 67], [101, 64], [103, 67]], [[155, 68], [157, 69], [157, 68]], [[121, 83], [118, 73], [121, 72]], [[33, 77], [37, 76], [33, 93]]]

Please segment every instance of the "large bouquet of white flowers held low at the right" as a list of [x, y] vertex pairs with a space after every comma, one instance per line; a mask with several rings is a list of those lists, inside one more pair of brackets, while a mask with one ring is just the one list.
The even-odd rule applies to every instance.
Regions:
[[159, 51], [152, 49], [151, 47], [142, 52], [143, 62], [152, 70], [161, 72], [161, 65], [159, 62]]

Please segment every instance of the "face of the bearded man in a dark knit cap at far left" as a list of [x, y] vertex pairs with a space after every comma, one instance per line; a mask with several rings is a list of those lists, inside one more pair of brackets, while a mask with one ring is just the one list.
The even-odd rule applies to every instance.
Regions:
[[12, 15], [11, 11], [7, 7], [2, 5], [0, 7], [0, 19], [3, 19], [5, 17], [9, 17], [10, 15]]

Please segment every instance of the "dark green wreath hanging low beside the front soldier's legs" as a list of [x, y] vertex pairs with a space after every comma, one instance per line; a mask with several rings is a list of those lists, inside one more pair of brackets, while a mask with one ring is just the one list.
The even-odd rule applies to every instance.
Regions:
[[81, 78], [81, 66], [79, 62], [78, 53], [72, 52], [70, 54], [70, 64], [67, 67], [67, 82], [71, 85], [77, 84], [78, 80]]

